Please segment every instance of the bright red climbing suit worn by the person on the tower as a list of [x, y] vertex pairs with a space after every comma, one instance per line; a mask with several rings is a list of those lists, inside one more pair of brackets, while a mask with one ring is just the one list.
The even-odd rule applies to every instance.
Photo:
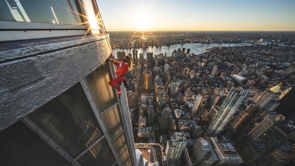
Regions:
[[[119, 68], [116, 72], [117, 78], [111, 80], [109, 82], [109, 85], [116, 88], [119, 85], [119, 83], [122, 83], [124, 81], [129, 65], [127, 62], [117, 62], [115, 60], [113, 60], [112, 63], [114, 63], [114, 65], [118, 66]], [[117, 92], [118, 92], [118, 96], [120, 97], [121, 96], [120, 87], [117, 89]]]

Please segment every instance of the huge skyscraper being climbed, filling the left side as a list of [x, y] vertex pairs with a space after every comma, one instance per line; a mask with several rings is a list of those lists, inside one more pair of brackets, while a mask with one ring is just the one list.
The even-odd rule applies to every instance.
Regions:
[[[0, 165], [135, 165], [126, 91], [121, 91], [119, 100], [116, 89], [108, 84], [115, 75], [113, 64], [107, 61], [109, 35], [99, 28], [103, 26], [100, 19], [94, 24], [79, 23], [79, 15], [91, 19], [88, 14], [96, 13], [96, 4], [68, 1], [72, 10], [67, 10], [52, 1], [60, 24], [14, 20], [15, 27], [11, 27], [2, 26], [5, 18], [12, 17], [9, 3], [13, 8], [35, 8], [43, 21], [48, 6], [44, 1], [6, 2], [0, 5], [5, 15], [1, 14], [0, 41], [12, 47], [1, 49]], [[26, 32], [34, 35], [10, 33], [24, 27], [23, 23]], [[60, 28], [64, 33], [59, 33]], [[5, 43], [10, 39], [3, 34], [14, 41]], [[26, 45], [19, 45], [24, 40]]]

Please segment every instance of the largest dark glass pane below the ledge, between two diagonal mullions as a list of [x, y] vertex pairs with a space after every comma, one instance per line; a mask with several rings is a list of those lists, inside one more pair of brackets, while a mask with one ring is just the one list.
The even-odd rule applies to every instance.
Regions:
[[29, 117], [72, 157], [103, 135], [80, 83]]

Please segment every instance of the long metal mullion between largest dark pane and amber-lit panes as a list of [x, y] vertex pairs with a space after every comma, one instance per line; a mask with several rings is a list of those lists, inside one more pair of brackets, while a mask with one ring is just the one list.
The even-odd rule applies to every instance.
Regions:
[[84, 90], [84, 93], [85, 93], [85, 95], [86, 95], [86, 97], [87, 97], [87, 99], [88, 99], [88, 101], [90, 103], [90, 106], [91, 106], [91, 108], [92, 108], [92, 110], [94, 112], [94, 115], [95, 115], [95, 117], [96, 117], [96, 119], [97, 119], [97, 121], [98, 121], [101, 129], [102, 129], [102, 132], [104, 133], [104, 135], [106, 137], [106, 140], [109, 143], [109, 147], [111, 148], [111, 150], [113, 152], [113, 155], [116, 158], [118, 164], [121, 166], [122, 164], [119, 161], [119, 157], [118, 157], [118, 155], [116, 153], [116, 150], [114, 148], [114, 145], [112, 143], [112, 139], [111, 139], [111, 137], [109, 135], [109, 132], [106, 129], [106, 126], [104, 125], [104, 122], [101, 119], [101, 116], [99, 115], [99, 109], [97, 108], [96, 103], [94, 102], [94, 99], [93, 99], [93, 97], [92, 97], [92, 95], [90, 93], [89, 86], [88, 86], [88, 83], [87, 83], [86, 78], [83, 78], [80, 81], [80, 83], [81, 83], [81, 86], [82, 86], [82, 88]]

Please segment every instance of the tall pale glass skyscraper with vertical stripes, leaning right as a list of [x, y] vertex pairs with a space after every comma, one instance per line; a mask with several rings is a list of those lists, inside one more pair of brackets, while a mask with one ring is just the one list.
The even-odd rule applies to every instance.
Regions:
[[235, 111], [241, 105], [242, 101], [244, 101], [247, 95], [248, 92], [244, 91], [244, 89], [241, 87], [231, 89], [217, 114], [210, 122], [206, 131], [206, 135], [216, 137], [223, 130], [224, 126], [228, 123], [232, 115], [235, 114]]

